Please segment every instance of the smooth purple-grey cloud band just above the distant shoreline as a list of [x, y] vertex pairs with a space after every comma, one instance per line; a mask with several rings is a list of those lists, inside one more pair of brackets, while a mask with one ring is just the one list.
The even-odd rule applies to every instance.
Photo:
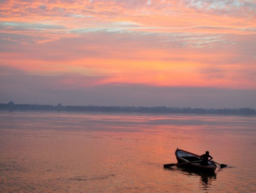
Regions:
[[[81, 74], [40, 76], [0, 69], [1, 102], [105, 106], [169, 106], [191, 108], [256, 108], [255, 90], [172, 87], [111, 83], [91, 86], [105, 77]], [[73, 82], [73, 83], [72, 83]]]

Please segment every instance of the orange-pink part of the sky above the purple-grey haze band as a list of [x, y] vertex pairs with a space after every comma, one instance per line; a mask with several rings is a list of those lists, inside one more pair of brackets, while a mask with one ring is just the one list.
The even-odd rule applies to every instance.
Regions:
[[22, 72], [63, 89], [256, 90], [256, 1], [3, 0], [0, 68], [6, 82]]

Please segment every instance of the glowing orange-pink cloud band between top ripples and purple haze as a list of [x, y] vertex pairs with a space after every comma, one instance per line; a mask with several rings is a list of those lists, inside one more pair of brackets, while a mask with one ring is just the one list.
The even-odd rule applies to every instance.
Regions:
[[[254, 73], [250, 73], [254, 71], [255, 44], [247, 36], [98, 31], [30, 45], [16, 43], [20, 38], [28, 42], [30, 36], [11, 37], [15, 41], [9, 43], [7, 37], [0, 36], [1, 66], [35, 75], [107, 77], [98, 82], [101, 84], [256, 87], [251, 81]], [[222, 72], [205, 73], [206, 69]], [[241, 78], [237, 81], [234, 77]]]

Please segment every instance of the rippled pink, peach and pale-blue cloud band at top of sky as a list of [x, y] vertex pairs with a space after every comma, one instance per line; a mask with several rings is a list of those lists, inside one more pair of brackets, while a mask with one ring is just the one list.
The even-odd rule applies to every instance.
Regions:
[[[163, 45], [171, 47], [176, 43], [192, 48], [216, 47], [233, 43], [222, 38], [225, 34], [255, 34], [255, 6], [254, 2], [238, 0], [3, 1], [0, 33], [4, 36], [2, 39], [22, 44], [110, 32], [137, 33], [145, 37], [154, 34], [152, 39], [170, 37], [171, 41], [164, 40]], [[215, 14], [216, 9], [228, 10], [231, 14]], [[217, 39], [176, 41], [213, 36]]]

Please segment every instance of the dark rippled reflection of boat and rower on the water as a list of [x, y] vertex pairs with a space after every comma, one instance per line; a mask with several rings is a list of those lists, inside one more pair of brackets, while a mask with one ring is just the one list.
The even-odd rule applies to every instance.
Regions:
[[[207, 191], [209, 188], [211, 188], [213, 181], [217, 179], [217, 174], [215, 172], [210, 173], [204, 173], [197, 170], [193, 170], [191, 168], [186, 168], [182, 166], [177, 166], [176, 168], [167, 168], [168, 170], [172, 170], [173, 172], [179, 172], [181, 174], [187, 175], [189, 177], [200, 177], [199, 180], [199, 186], [201, 189]], [[221, 171], [219, 169], [217, 173]]]

